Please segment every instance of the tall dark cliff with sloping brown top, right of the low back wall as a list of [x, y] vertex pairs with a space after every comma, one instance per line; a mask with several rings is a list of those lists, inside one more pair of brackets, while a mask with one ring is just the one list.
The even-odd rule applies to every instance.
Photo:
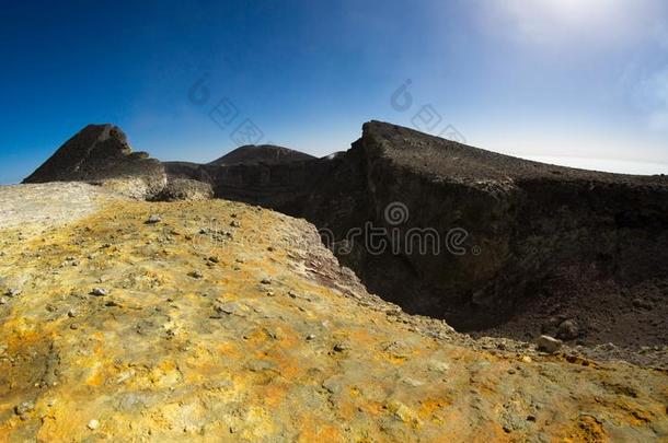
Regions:
[[[350, 265], [410, 311], [484, 328], [521, 314], [561, 268], [595, 268], [624, 287], [668, 277], [665, 178], [544, 165], [380, 123], [367, 124], [353, 150], [365, 152], [373, 223], [399, 235], [388, 237], [392, 258], [357, 247]], [[403, 205], [401, 223], [384, 217], [393, 202]], [[411, 252], [416, 228], [439, 233], [440, 254]], [[452, 247], [448, 233], [458, 231]]]

